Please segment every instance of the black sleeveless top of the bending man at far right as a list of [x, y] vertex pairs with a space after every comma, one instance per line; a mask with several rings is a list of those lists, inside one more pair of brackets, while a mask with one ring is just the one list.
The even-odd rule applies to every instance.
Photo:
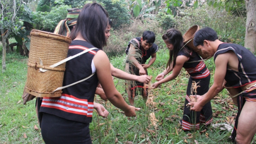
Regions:
[[256, 81], [256, 57], [245, 47], [222, 43], [214, 54], [214, 61], [219, 54], [233, 51], [238, 58], [238, 72], [227, 69], [225, 80], [232, 87], [241, 87]]

